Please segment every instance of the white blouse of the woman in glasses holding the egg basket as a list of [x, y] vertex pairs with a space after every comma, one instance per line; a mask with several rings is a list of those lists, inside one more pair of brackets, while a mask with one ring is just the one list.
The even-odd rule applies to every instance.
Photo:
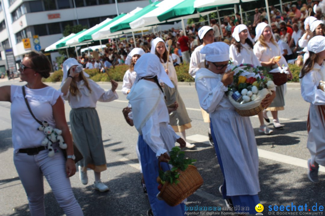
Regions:
[[[210, 74], [210, 77], [200, 77], [201, 73]], [[201, 68], [196, 73], [195, 88], [199, 96], [200, 106], [207, 113], [216, 110], [235, 109], [226, 95], [228, 88], [221, 82], [222, 76], [222, 74], [215, 74], [206, 68]]]

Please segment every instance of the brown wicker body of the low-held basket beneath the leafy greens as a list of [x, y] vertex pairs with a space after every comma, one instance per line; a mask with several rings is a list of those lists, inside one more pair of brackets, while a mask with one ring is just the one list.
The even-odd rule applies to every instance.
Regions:
[[200, 173], [193, 165], [188, 165], [187, 169], [180, 173], [178, 184], [166, 182], [157, 195], [158, 199], [163, 199], [170, 206], [178, 205], [203, 184]]

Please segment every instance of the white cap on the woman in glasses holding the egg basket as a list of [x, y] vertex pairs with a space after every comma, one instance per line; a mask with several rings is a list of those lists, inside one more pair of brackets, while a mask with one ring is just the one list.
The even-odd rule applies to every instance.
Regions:
[[229, 60], [229, 45], [224, 42], [214, 42], [205, 45], [201, 51], [209, 62], [225, 62]]

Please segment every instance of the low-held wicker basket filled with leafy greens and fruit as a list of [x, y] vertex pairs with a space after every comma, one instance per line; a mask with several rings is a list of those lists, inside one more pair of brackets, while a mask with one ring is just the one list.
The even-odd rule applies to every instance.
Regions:
[[203, 179], [192, 165], [196, 160], [185, 158], [185, 153], [179, 147], [169, 152], [168, 164], [173, 165], [171, 170], [162, 171], [159, 162], [159, 176], [157, 177], [158, 199], [164, 200], [170, 206], [176, 206], [185, 198], [193, 194], [203, 184]]

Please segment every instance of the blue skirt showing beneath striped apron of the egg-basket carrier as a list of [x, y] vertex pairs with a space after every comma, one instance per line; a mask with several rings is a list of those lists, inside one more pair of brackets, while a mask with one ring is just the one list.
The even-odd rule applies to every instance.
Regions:
[[[212, 135], [212, 139], [213, 139], [213, 142], [214, 142], [215, 153], [217, 154], [217, 158], [218, 158], [218, 162], [219, 162], [219, 165], [220, 165], [222, 175], [225, 176], [222, 161], [221, 161], [221, 156], [220, 156], [220, 152], [219, 152], [219, 148], [218, 148], [218, 145], [217, 145], [217, 142], [216, 142], [216, 139], [215, 139], [215, 135], [214, 135], [214, 132], [213, 132], [211, 122], [212, 122], [212, 120], [210, 119], [211, 135]], [[227, 196], [226, 179], [225, 178], [224, 178], [224, 183], [223, 183], [223, 186], [222, 186], [222, 197], [223, 197], [223, 199], [231, 199], [234, 208], [236, 206], [238, 207], [238, 205], [240, 207], [246, 207], [246, 206], [249, 207], [249, 210], [236, 210], [236, 212], [247, 212], [249, 214], [256, 214], [257, 213], [257, 211], [255, 210], [255, 206], [260, 203], [260, 199], [258, 198], [258, 195], [256, 194], [256, 195]]]

